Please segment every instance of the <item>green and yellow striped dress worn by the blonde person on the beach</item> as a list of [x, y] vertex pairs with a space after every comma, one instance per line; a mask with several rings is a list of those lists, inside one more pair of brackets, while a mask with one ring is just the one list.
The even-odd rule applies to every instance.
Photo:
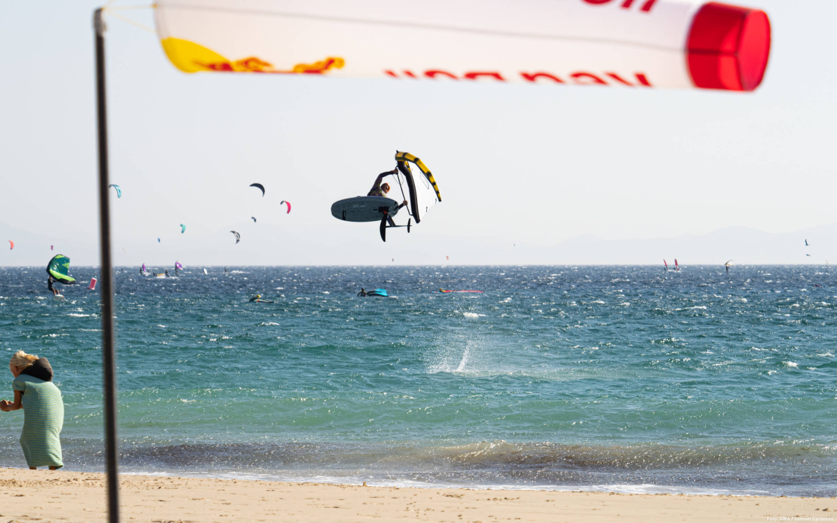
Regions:
[[64, 466], [59, 435], [64, 426], [64, 401], [53, 382], [21, 374], [12, 382], [23, 392], [23, 432], [20, 446], [30, 467]]

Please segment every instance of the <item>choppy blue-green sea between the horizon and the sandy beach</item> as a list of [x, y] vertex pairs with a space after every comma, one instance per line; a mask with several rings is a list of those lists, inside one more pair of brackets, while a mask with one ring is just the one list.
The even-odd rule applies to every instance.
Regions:
[[[80, 281], [95, 272], [72, 271]], [[116, 269], [123, 471], [837, 492], [837, 282], [829, 269], [208, 273], [157, 279]], [[43, 268], [0, 268], [0, 354], [49, 358], [64, 394], [64, 463], [101, 470], [98, 293], [62, 286], [66, 299], [55, 301], [45, 276]], [[359, 298], [361, 287], [390, 297]], [[256, 293], [275, 303], [249, 303]], [[0, 396], [11, 398], [6, 379]], [[0, 466], [25, 466], [22, 423], [23, 413], [0, 417]]]

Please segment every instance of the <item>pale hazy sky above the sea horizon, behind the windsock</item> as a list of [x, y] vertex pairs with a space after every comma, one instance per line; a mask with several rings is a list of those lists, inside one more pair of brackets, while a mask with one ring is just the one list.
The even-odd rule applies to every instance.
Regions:
[[[580, 236], [835, 223], [837, 4], [741, 4], [773, 25], [768, 72], [750, 94], [183, 74], [154, 34], [110, 18], [115, 263], [527, 264], [544, 262], [526, 252]], [[96, 263], [96, 5], [0, 5], [0, 235], [18, 238], [0, 265], [45, 263], [57, 252], [47, 244]], [[153, 26], [151, 10], [127, 14]], [[330, 208], [365, 194], [396, 150], [427, 163], [443, 201], [383, 244], [377, 224], [341, 223]], [[707, 249], [696, 261], [727, 255]], [[556, 259], [627, 262], [606, 250]]]

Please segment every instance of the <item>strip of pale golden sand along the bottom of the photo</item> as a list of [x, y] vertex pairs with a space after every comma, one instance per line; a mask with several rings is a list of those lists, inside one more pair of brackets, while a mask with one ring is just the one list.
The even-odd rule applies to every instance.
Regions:
[[[104, 474], [0, 469], [0, 520], [105, 520]], [[835, 498], [412, 489], [125, 475], [122, 520], [149, 522], [833, 521]]]

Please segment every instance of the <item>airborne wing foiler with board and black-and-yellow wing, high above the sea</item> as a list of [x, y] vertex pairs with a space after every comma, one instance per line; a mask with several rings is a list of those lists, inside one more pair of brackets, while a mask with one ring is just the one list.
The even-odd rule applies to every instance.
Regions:
[[[436, 185], [433, 174], [419, 158], [408, 152], [396, 151], [395, 161], [398, 162], [400, 174], [396, 174], [396, 177], [401, 189], [401, 192], [396, 192], [396, 194], [408, 202], [407, 213], [411, 217], [408, 218], [407, 225], [396, 225], [393, 220], [403, 205], [399, 205], [392, 198], [383, 196], [358, 196], [340, 200], [331, 204], [331, 216], [346, 222], [379, 221], [383, 241], [387, 241], [388, 228], [406, 227], [409, 233], [412, 221], [420, 223], [424, 213], [427, 213], [429, 208], [436, 203], [441, 202], [442, 196], [439, 194], [439, 186]], [[419, 176], [413, 176], [410, 163], [419, 167], [421, 172]]]

